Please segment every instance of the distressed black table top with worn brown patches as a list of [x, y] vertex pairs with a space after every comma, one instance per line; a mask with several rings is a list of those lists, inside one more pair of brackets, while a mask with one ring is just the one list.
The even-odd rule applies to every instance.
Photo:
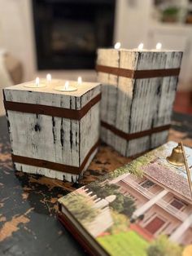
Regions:
[[[169, 139], [192, 147], [192, 117], [174, 114]], [[131, 161], [102, 145], [80, 183], [15, 172], [7, 122], [0, 117], [0, 255], [84, 255], [57, 221], [55, 202], [85, 183]]]

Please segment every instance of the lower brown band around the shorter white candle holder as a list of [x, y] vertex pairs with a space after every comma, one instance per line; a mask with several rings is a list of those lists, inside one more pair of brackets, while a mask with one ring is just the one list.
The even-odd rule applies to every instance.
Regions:
[[89, 150], [87, 156], [85, 157], [85, 160], [82, 162], [80, 167], [63, 165], [63, 164], [55, 163], [52, 161], [46, 161], [46, 160], [36, 159], [31, 157], [21, 157], [14, 154], [12, 154], [12, 161], [20, 164], [28, 165], [28, 166], [37, 166], [37, 167], [47, 168], [50, 170], [59, 170], [59, 171], [70, 173], [70, 174], [81, 174], [81, 171], [84, 169], [87, 161], [89, 160], [89, 157], [94, 152], [94, 150], [98, 148], [98, 145], [99, 145], [99, 141], [95, 143], [94, 146]]

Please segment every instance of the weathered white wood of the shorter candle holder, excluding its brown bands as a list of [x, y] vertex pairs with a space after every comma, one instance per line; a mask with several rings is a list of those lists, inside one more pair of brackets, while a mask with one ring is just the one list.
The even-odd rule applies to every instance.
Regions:
[[[54, 90], [54, 84], [37, 90], [28, 90], [22, 84], [8, 87], [4, 90], [5, 99], [78, 110], [94, 99], [101, 90], [98, 83], [83, 83], [74, 92], [59, 92]], [[7, 119], [13, 154], [80, 167], [99, 139], [100, 103], [94, 104], [80, 121], [10, 110], [7, 111]], [[85, 167], [89, 165], [95, 152], [89, 157]], [[15, 167], [16, 170], [55, 179], [64, 177], [76, 181], [81, 176], [18, 163], [15, 163]]]

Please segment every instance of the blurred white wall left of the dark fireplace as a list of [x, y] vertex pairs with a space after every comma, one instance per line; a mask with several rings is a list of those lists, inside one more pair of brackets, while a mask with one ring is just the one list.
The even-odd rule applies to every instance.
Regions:
[[24, 80], [35, 70], [32, 8], [30, 0], [0, 0], [0, 48], [5, 48], [24, 66]]

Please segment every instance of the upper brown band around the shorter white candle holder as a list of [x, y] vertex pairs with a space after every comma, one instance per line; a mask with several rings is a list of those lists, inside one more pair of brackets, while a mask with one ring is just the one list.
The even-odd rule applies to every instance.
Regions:
[[63, 117], [74, 120], [81, 120], [82, 117], [88, 113], [89, 109], [97, 104], [101, 99], [101, 93], [95, 96], [93, 99], [89, 101], [83, 108], [80, 110], [76, 109], [68, 109], [68, 108], [59, 108], [53, 106], [39, 105], [39, 104], [27, 104], [20, 102], [12, 102], [4, 100], [4, 105], [7, 110], [18, 111], [21, 113], [33, 113], [46, 115], [51, 117]]

